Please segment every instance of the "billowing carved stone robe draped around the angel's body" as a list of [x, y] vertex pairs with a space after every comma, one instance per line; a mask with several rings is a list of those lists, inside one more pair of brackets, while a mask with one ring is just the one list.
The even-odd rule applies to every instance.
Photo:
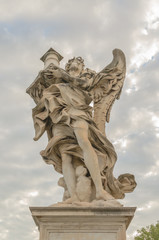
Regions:
[[[92, 82], [92, 81], [90, 81]], [[113, 177], [113, 167], [117, 155], [110, 141], [102, 135], [92, 119], [91, 94], [87, 91], [88, 79], [83, 84], [52, 84], [43, 91], [43, 97], [33, 109], [35, 140], [45, 130], [49, 142], [41, 156], [47, 164], [62, 173], [61, 154], [67, 153], [73, 158], [74, 167], [84, 164], [83, 153], [74, 134], [74, 122], [85, 120], [88, 123], [88, 137], [97, 153], [103, 185], [115, 198], [123, 198], [118, 181]], [[89, 86], [90, 87], [90, 86]]]

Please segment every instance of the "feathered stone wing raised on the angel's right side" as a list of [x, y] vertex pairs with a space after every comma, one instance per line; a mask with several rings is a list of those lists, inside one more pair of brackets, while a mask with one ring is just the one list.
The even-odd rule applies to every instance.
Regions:
[[105, 135], [105, 121], [109, 122], [113, 103], [119, 99], [126, 73], [125, 55], [120, 49], [113, 50], [113, 61], [94, 79], [94, 121]]

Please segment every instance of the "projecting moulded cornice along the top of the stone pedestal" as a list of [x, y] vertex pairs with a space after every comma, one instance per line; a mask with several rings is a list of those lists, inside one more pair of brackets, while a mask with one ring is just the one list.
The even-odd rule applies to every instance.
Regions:
[[[126, 229], [128, 228], [136, 207], [30, 207], [32, 217], [39, 227], [40, 222], [52, 222], [55, 219], [89, 219], [98, 218], [122, 218], [125, 219]], [[53, 220], [54, 219], [54, 220]]]

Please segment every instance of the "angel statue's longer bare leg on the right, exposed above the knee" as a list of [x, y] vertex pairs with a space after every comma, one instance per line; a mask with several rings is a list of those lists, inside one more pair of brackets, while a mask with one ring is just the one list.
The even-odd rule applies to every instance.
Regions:
[[98, 157], [88, 139], [88, 123], [84, 120], [76, 121], [74, 123], [74, 133], [77, 137], [78, 144], [83, 151], [85, 165], [88, 168], [95, 184], [96, 198], [103, 200], [114, 199], [113, 196], [103, 189], [98, 165]]

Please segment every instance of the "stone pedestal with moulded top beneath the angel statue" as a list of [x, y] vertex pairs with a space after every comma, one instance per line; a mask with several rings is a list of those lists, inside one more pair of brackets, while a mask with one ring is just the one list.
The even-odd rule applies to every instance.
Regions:
[[134, 207], [30, 207], [40, 240], [125, 240]]

